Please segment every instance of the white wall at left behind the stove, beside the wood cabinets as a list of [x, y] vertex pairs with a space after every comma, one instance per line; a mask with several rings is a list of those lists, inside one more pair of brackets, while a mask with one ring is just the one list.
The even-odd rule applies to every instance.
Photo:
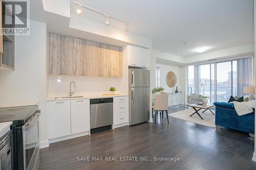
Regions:
[[31, 105], [41, 109], [40, 141], [47, 140], [46, 24], [30, 21], [30, 35], [15, 37], [15, 71], [0, 71], [1, 107]]

